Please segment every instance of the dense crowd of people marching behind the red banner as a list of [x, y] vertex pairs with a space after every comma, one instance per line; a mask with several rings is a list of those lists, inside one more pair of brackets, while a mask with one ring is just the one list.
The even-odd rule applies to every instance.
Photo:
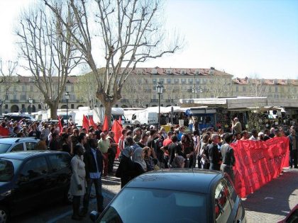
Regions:
[[[36, 137], [40, 139], [38, 149], [66, 151], [72, 155], [71, 192], [73, 199], [73, 219], [87, 215], [92, 184], [96, 189], [97, 208], [103, 210], [101, 178], [109, 175], [121, 178], [121, 188], [131, 179], [147, 171], [160, 168], [204, 168], [228, 173], [234, 181], [233, 166], [235, 156], [231, 143], [238, 140], [263, 140], [283, 137], [282, 127], [270, 130], [242, 130], [238, 118], [234, 118], [231, 132], [204, 130], [185, 132], [184, 126], [165, 128], [151, 126], [123, 127], [116, 143], [115, 133], [102, 131], [99, 124], [89, 129], [78, 129], [75, 125], [60, 130], [56, 124], [47, 122], [25, 125], [22, 122], [5, 122], [1, 127], [9, 129], [11, 137]], [[297, 168], [298, 138], [294, 126], [290, 128], [289, 166]], [[117, 147], [120, 151], [117, 154]], [[114, 161], [118, 156], [119, 165], [114, 173]], [[83, 209], [79, 201], [84, 196]]]

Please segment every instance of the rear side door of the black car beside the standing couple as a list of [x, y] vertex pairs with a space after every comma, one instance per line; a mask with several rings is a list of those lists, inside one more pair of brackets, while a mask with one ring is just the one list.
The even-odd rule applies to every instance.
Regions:
[[50, 173], [48, 179], [51, 183], [49, 193], [61, 198], [67, 193], [70, 185], [70, 155], [59, 153], [48, 155]]

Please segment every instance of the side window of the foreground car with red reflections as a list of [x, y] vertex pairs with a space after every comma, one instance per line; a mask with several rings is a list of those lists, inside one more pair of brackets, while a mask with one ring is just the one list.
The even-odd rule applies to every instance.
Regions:
[[231, 204], [228, 199], [230, 191], [224, 179], [216, 186], [214, 195], [216, 222], [227, 222], [231, 214]]

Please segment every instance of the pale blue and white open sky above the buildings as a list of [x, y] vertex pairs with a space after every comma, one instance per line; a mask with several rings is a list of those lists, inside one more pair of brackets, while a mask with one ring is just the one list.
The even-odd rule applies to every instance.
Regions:
[[[16, 58], [13, 30], [33, 1], [0, 0], [2, 59]], [[215, 67], [234, 77], [298, 79], [298, 0], [167, 0], [163, 16], [167, 32], [183, 36], [183, 48], [139, 67]]]

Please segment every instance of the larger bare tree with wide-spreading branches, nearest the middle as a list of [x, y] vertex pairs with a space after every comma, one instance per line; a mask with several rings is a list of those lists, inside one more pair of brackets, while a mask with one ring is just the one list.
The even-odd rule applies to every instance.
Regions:
[[[55, 4], [44, 1], [70, 31], [77, 49], [82, 52], [96, 77], [96, 97], [106, 108], [108, 120], [111, 118], [111, 107], [121, 98], [123, 85], [138, 62], [162, 57], [179, 49], [176, 38], [166, 48], [162, 41], [165, 36], [160, 29], [162, 24], [158, 23], [162, 13], [159, 0], [68, 0], [75, 24], [79, 27], [77, 33], [72, 32], [71, 25], [61, 18]], [[92, 35], [91, 30], [99, 32]], [[103, 76], [99, 74], [96, 55], [92, 51], [98, 40], [96, 37], [103, 42]]]

